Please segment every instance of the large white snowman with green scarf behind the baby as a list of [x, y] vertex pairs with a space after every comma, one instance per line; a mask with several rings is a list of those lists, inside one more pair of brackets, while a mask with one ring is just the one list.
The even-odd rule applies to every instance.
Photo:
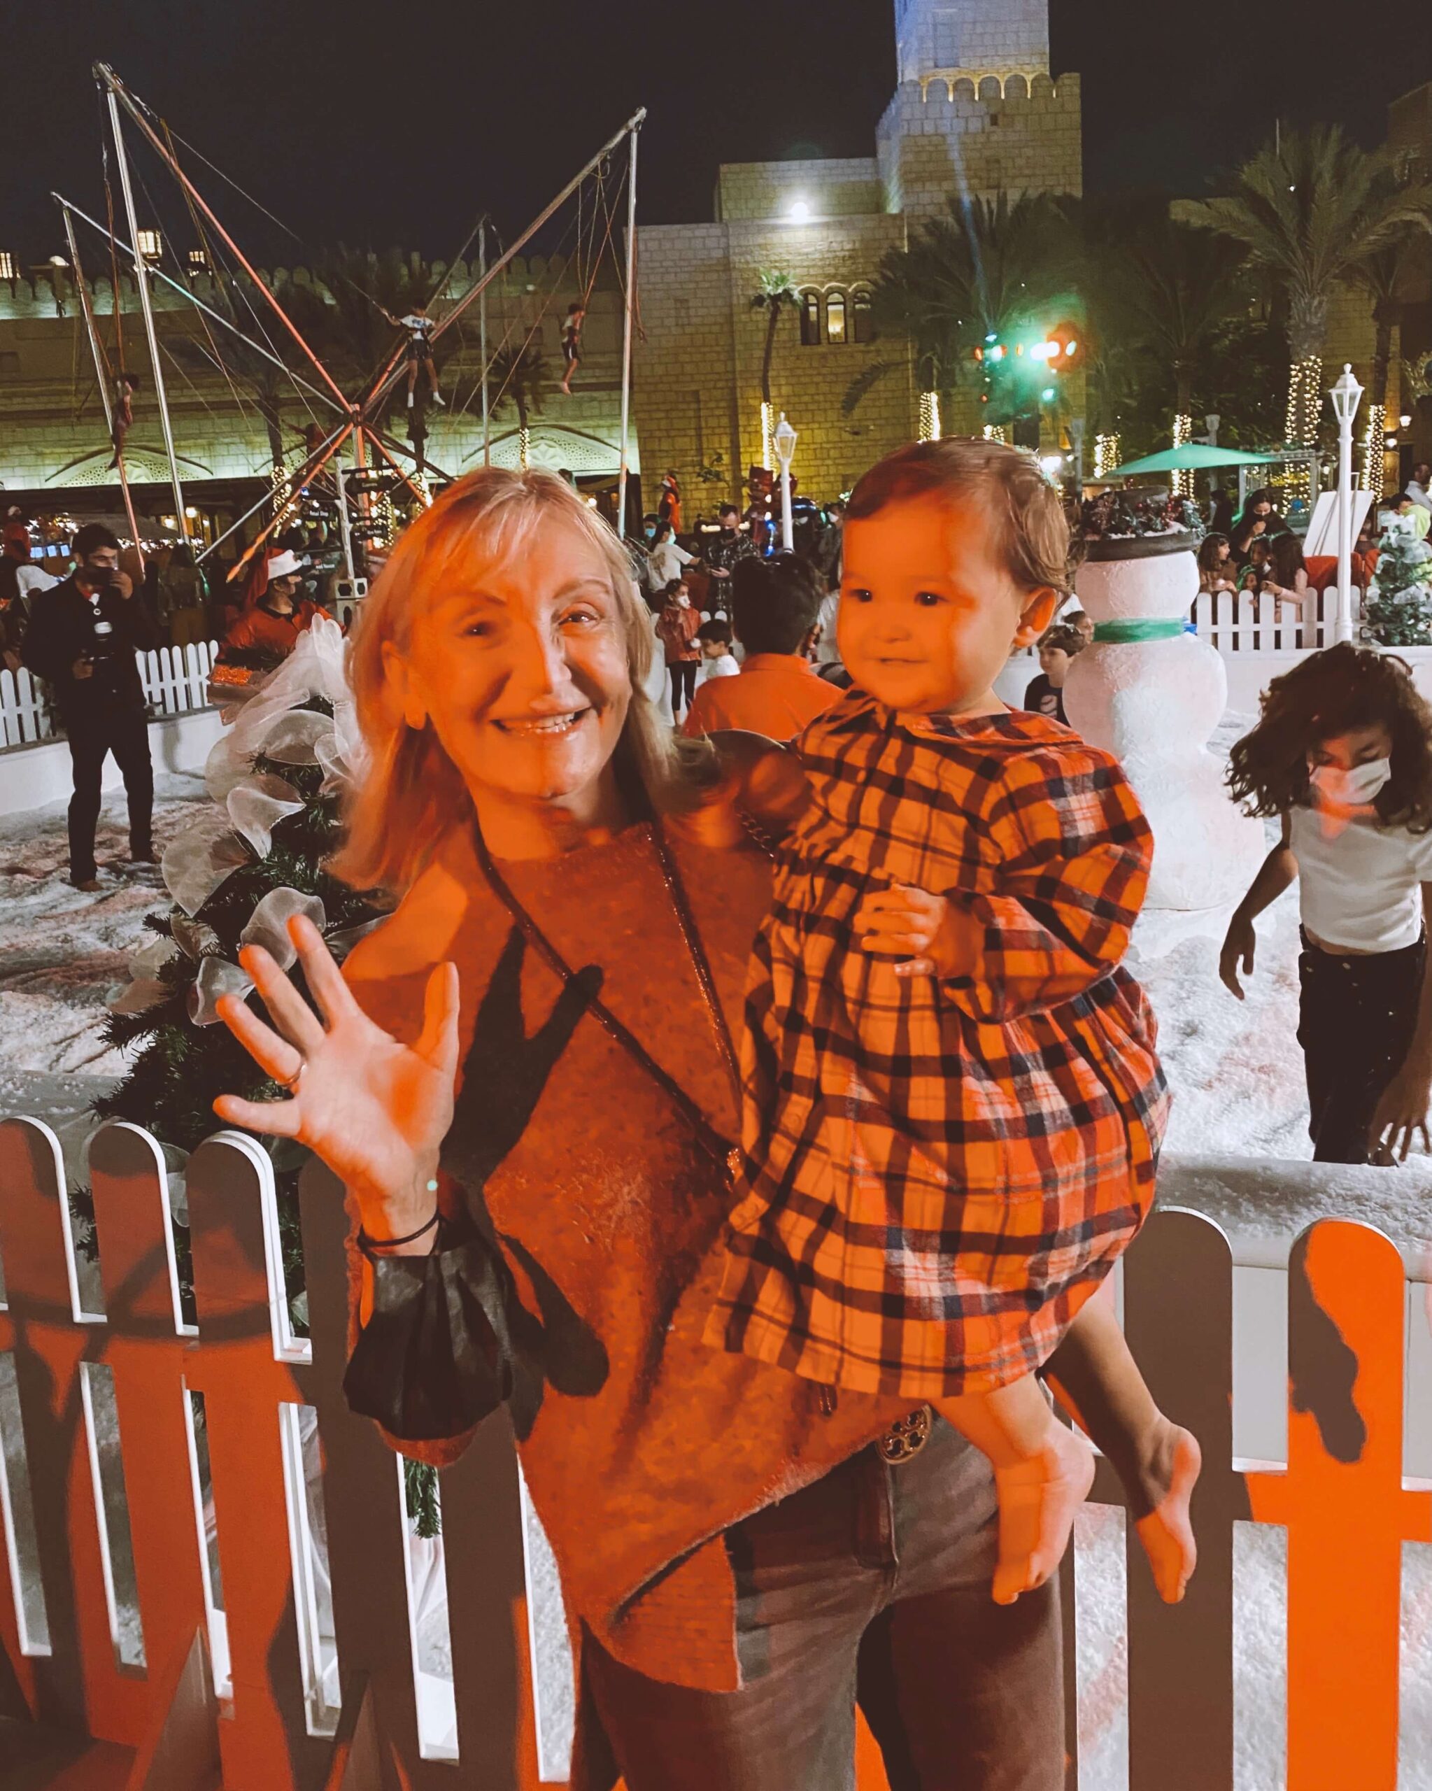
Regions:
[[1223, 659], [1185, 632], [1198, 596], [1196, 537], [1087, 543], [1074, 589], [1095, 639], [1070, 664], [1069, 725], [1117, 754], [1153, 827], [1146, 908], [1196, 912], [1239, 901], [1266, 854], [1208, 750], [1228, 702]]

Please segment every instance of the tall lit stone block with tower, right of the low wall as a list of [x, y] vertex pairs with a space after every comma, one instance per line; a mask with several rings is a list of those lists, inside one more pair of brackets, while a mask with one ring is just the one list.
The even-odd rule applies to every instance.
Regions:
[[800, 294], [777, 328], [771, 407], [798, 432], [800, 489], [831, 498], [918, 430], [909, 344], [870, 331], [886, 251], [958, 192], [1081, 192], [1079, 77], [1051, 75], [1047, 0], [893, 7], [899, 86], [874, 156], [723, 167], [712, 222], [639, 231], [648, 484], [671, 467], [696, 509], [737, 496], [763, 464], [763, 272]]

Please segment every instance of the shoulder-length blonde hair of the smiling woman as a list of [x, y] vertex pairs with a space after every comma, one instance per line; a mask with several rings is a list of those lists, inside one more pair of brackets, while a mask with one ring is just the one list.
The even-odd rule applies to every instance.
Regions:
[[345, 842], [329, 863], [362, 890], [403, 896], [453, 827], [474, 818], [473, 799], [431, 722], [408, 727], [383, 664], [392, 643], [408, 656], [433, 596], [480, 566], [523, 552], [544, 523], [564, 521], [600, 553], [626, 638], [632, 702], [616, 749], [616, 770], [637, 811], [695, 806], [714, 776], [714, 756], [678, 741], [646, 695], [655, 638], [632, 566], [616, 534], [553, 473], [489, 467], [458, 480], [397, 541], [353, 630], [349, 679], [369, 768], [344, 804]]

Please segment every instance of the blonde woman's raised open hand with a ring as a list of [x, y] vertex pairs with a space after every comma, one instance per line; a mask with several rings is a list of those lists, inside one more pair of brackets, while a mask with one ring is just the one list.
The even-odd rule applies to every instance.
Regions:
[[374, 1238], [405, 1236], [433, 1211], [428, 1184], [453, 1121], [456, 965], [440, 964], [428, 978], [422, 1035], [406, 1046], [363, 1014], [311, 921], [295, 915], [288, 937], [322, 1019], [261, 946], [240, 956], [274, 1024], [238, 996], [220, 999], [218, 1017], [260, 1069], [292, 1089], [292, 1100], [222, 1094], [215, 1112], [306, 1144], [353, 1191]]

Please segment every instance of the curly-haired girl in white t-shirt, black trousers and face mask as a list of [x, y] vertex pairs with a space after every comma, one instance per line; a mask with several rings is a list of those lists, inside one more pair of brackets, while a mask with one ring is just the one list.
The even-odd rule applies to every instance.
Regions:
[[1298, 1042], [1317, 1162], [1428, 1146], [1432, 1091], [1432, 709], [1402, 659], [1330, 647], [1278, 677], [1228, 788], [1283, 831], [1235, 912], [1219, 976], [1242, 1001], [1253, 921], [1298, 878]]

